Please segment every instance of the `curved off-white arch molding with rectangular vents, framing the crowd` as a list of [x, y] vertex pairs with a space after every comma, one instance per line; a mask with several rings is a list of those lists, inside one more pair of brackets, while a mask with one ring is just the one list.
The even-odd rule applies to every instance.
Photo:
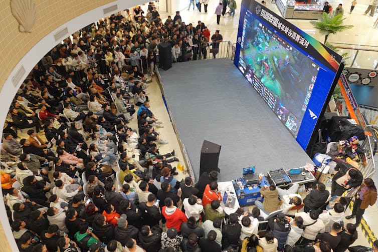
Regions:
[[[112, 3], [100, 6], [96, 9], [90, 10], [69, 22], [57, 27], [50, 34], [41, 38], [41, 40], [33, 46], [33, 48], [20, 60], [20, 62], [13, 68], [11, 74], [6, 79], [3, 88], [0, 92], [0, 101], [2, 110], [0, 110], [0, 125], [4, 125], [7, 117], [8, 108], [10, 107], [17, 90], [22, 82], [28, 76], [33, 67], [48, 53], [54, 46], [60, 43], [68, 35], [73, 34], [79, 29], [93, 23], [94, 21], [108, 16], [112, 13], [123, 11], [125, 9], [148, 3], [148, 0], [117, 0]], [[57, 6], [59, 9], [59, 6]], [[54, 10], [51, 10], [54, 11]], [[3, 127], [0, 129], [3, 132]], [[3, 196], [3, 192], [1, 193]], [[13, 237], [11, 226], [8, 222], [8, 217], [4, 205], [4, 201], [0, 202], [0, 222], [5, 231], [8, 243], [12, 251], [19, 251], [15, 239]], [[0, 227], [1, 230], [1, 227]]]

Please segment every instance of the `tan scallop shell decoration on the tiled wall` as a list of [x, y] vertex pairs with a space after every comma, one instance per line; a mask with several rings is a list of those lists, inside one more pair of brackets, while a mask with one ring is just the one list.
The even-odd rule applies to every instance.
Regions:
[[31, 33], [37, 19], [37, 6], [33, 0], [11, 0], [12, 15], [19, 22], [22, 33]]

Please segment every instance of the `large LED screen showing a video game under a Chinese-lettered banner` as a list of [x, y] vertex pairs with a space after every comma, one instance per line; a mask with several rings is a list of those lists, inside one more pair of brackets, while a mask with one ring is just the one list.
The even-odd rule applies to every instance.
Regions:
[[243, 1], [234, 64], [304, 150], [341, 56], [255, 1]]

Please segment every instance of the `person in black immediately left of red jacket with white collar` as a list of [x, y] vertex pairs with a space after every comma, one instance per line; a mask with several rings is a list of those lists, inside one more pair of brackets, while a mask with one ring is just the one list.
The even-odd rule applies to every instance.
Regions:
[[142, 214], [143, 225], [158, 226], [161, 219], [159, 204], [155, 205], [156, 196], [152, 193], [148, 195], [147, 202], [140, 202], [139, 212]]

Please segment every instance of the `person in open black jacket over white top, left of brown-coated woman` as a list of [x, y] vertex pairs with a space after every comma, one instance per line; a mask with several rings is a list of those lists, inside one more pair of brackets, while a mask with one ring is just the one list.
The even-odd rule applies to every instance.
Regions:
[[341, 196], [344, 191], [362, 184], [362, 173], [347, 163], [337, 163], [332, 178], [331, 196]]

